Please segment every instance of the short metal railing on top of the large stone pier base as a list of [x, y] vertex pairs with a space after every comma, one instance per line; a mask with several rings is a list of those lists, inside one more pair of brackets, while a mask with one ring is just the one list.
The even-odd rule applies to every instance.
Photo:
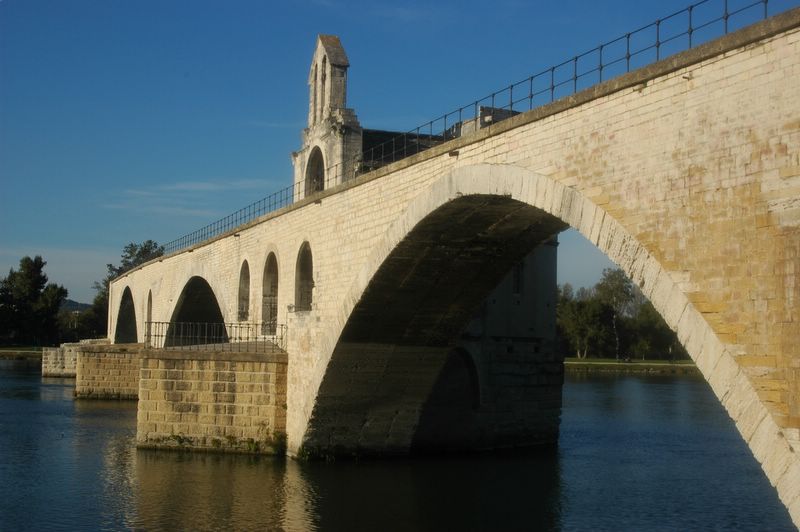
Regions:
[[261, 322], [148, 321], [145, 323], [145, 346], [149, 349], [276, 353], [286, 350], [286, 326]]

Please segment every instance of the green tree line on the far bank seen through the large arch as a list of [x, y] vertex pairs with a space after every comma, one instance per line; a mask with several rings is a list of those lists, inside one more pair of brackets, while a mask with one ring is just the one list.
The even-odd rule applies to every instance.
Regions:
[[592, 288], [558, 288], [558, 347], [577, 358], [688, 359], [655, 307], [619, 268]]

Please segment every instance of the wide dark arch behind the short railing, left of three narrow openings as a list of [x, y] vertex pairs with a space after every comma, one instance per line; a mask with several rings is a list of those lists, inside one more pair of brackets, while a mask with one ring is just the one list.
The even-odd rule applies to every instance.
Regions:
[[192, 277], [175, 305], [164, 347], [227, 342], [225, 320], [214, 291], [202, 277]]

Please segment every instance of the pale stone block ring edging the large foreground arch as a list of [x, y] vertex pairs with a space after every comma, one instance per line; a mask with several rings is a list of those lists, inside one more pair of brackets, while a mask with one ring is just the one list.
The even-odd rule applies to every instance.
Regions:
[[[303, 452], [307, 444], [325, 438], [333, 442], [331, 450], [335, 452], [336, 434], [326, 432], [326, 429], [318, 424], [319, 421], [323, 423], [330, 421], [324, 419], [326, 413], [322, 411], [327, 408], [324, 403], [330, 399], [326, 388], [330, 385], [333, 389], [336, 384], [341, 385], [343, 380], [346, 382], [348, 377], [337, 374], [336, 371], [331, 371], [332, 369], [337, 370], [341, 367], [357, 369], [357, 363], [354, 365], [357, 361], [345, 360], [346, 357], [337, 360], [337, 349], [343, 341], [352, 337], [351, 335], [361, 334], [363, 338], [368, 338], [371, 334], [370, 331], [359, 333], [350, 330], [348, 324], [352, 316], [359, 312], [358, 307], [364, 296], [368, 295], [370, 284], [376, 274], [380, 272], [387, 259], [392, 259], [393, 252], [401, 246], [407, 235], [432, 213], [443, 208], [447, 209], [448, 205], [459, 205], [459, 202], [469, 201], [470, 198], [478, 201], [485, 198], [487, 205], [504, 206], [505, 211], [501, 209], [504, 214], [503, 212], [501, 214], [510, 215], [512, 218], [509, 220], [510, 223], [514, 223], [511, 211], [515, 209], [519, 210], [520, 214], [541, 212], [549, 216], [542, 218], [543, 223], [552, 223], [552, 220], [556, 220], [564, 226], [576, 228], [617, 263], [642, 289], [667, 324], [676, 331], [679, 340], [686, 347], [713, 392], [735, 421], [737, 429], [750, 446], [755, 458], [762, 464], [767, 477], [777, 487], [783, 502], [790, 509], [798, 504], [800, 486], [796, 479], [800, 478], [800, 462], [793, 453], [786, 435], [764, 403], [760, 401], [754, 386], [745, 371], [737, 364], [729, 346], [719, 339], [703, 314], [692, 305], [670, 273], [609, 212], [578, 190], [530, 170], [507, 165], [479, 164], [456, 168], [446, 173], [433, 181], [429, 187], [421, 190], [404, 213], [389, 226], [355, 277], [335, 317], [336, 323], [329, 329], [330, 333], [319, 339], [316, 352], [322, 359], [310, 368], [296, 366], [293, 369], [290, 366], [290, 380], [291, 372], [294, 370], [303, 371], [308, 382], [304, 390], [300, 387], [290, 389], [288, 401], [291, 414], [287, 420], [290, 453]], [[522, 233], [521, 231], [520, 234]], [[431, 245], [435, 245], [435, 242], [432, 241]], [[457, 320], [453, 322], [455, 321]], [[394, 338], [402, 339], [401, 332], [394, 331], [392, 334]], [[431, 338], [435, 338], [436, 331], [433, 333]], [[354, 416], [354, 419], [339, 416], [337, 422], [340, 425], [360, 423], [363, 422], [363, 416]], [[415, 419], [393, 420], [393, 423], [405, 423], [407, 426], [413, 426], [416, 422]], [[402, 447], [407, 445], [408, 441], [399, 443]]]

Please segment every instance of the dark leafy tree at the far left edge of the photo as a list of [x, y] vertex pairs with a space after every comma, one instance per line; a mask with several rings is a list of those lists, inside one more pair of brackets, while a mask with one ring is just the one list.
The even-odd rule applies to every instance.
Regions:
[[16, 344], [47, 345], [58, 338], [58, 311], [67, 289], [48, 283], [41, 256], [23, 257], [0, 279], [0, 338]]

